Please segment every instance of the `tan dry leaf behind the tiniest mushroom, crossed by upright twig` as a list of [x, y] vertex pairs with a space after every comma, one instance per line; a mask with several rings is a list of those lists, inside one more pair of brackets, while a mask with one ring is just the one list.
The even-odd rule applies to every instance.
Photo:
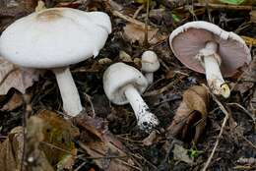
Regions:
[[[138, 41], [140, 44], [144, 42], [145, 28], [133, 24], [127, 24], [124, 28], [124, 36], [132, 43]], [[149, 28], [148, 41], [150, 44], [155, 44], [158, 41], [156, 35], [159, 28]]]

